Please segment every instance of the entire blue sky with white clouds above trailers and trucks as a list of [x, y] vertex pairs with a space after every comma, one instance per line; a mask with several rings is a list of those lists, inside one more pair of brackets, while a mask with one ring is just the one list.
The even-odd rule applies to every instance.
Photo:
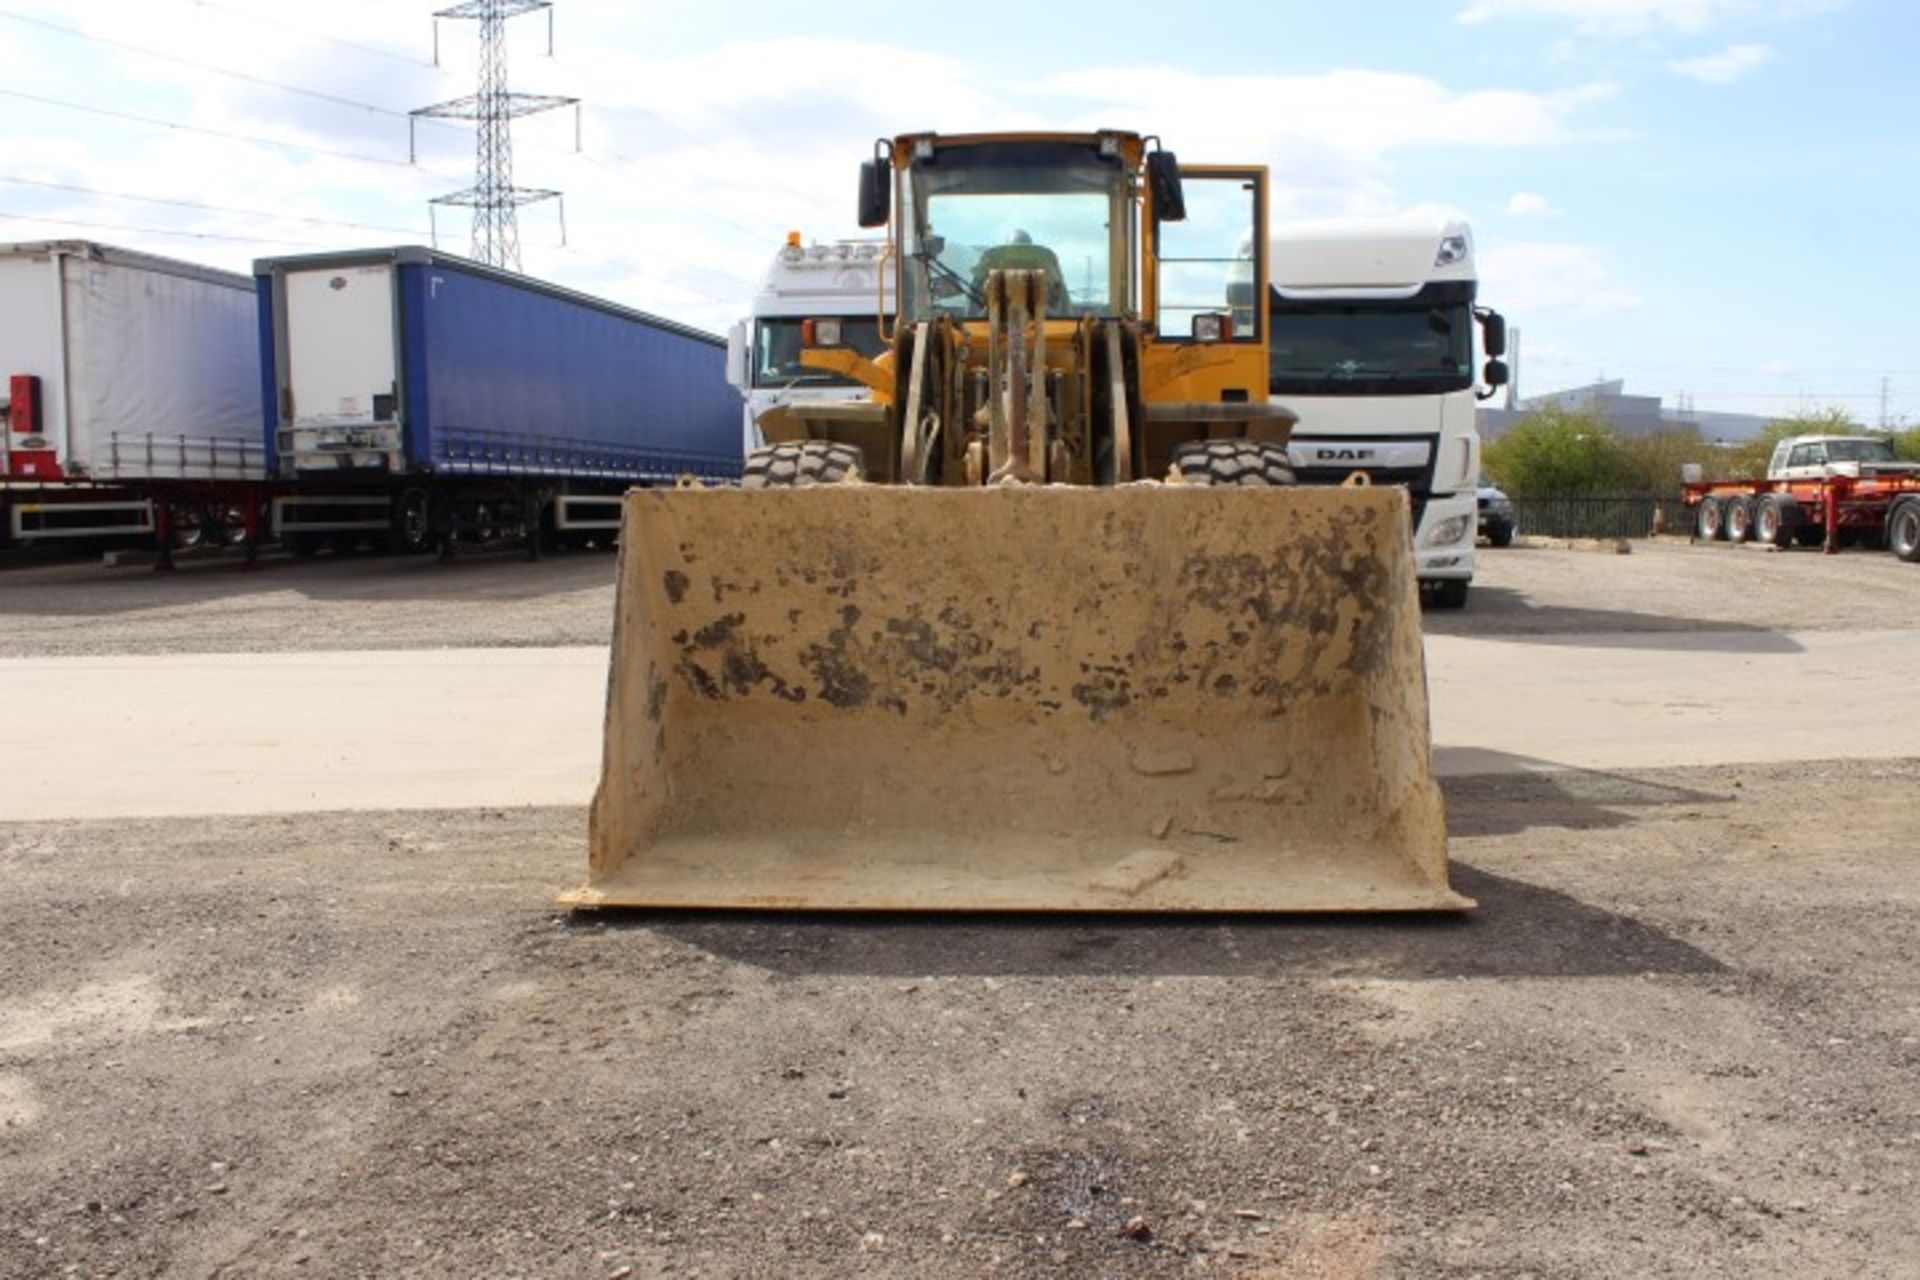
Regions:
[[[0, 238], [244, 271], [426, 238], [472, 180], [470, 23], [411, 0], [0, 0]], [[511, 23], [534, 274], [708, 328], [789, 226], [852, 234], [908, 129], [1117, 127], [1273, 167], [1277, 217], [1457, 213], [1523, 391], [1599, 374], [1699, 409], [1920, 422], [1920, 10], [1897, 0], [559, 0]], [[77, 35], [75, 35], [77, 33]], [[252, 77], [252, 79], [248, 79]], [[305, 90], [305, 92], [294, 92]], [[171, 127], [169, 127], [171, 125]], [[79, 190], [75, 190], [79, 188]], [[442, 244], [463, 249], [459, 211]]]

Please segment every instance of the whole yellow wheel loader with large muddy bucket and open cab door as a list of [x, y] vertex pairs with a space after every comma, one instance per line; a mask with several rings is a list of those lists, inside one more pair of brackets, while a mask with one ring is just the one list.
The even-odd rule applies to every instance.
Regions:
[[[737, 489], [626, 497], [572, 906], [1373, 912], [1448, 887], [1409, 501], [1294, 487], [1267, 175], [904, 134], [899, 315]], [[876, 309], [879, 299], [876, 297]]]

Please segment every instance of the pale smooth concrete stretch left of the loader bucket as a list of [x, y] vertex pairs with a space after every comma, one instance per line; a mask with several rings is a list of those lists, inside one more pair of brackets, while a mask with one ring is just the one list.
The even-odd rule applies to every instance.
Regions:
[[607, 651], [0, 662], [0, 819], [582, 804]]

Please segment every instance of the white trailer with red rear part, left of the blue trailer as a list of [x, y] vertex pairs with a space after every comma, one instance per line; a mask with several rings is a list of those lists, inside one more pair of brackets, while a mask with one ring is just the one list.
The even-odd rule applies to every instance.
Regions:
[[156, 503], [265, 480], [259, 378], [250, 276], [86, 240], [0, 244], [6, 532], [144, 532]]

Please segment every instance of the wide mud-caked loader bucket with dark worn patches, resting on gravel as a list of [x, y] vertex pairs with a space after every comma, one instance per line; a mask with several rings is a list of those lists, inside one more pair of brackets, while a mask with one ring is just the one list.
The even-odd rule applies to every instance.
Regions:
[[1400, 489], [651, 489], [570, 906], [1465, 908]]

